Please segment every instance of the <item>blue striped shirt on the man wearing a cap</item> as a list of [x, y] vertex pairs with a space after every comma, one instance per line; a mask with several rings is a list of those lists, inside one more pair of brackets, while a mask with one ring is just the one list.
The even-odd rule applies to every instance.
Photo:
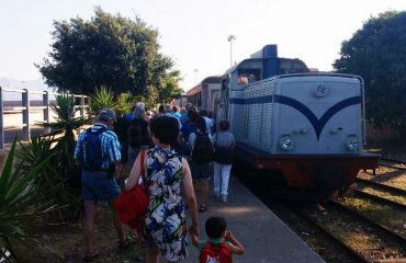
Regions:
[[[93, 127], [91, 127], [91, 130], [98, 132], [100, 128], [102, 128], [102, 126], [106, 127], [104, 124], [97, 124]], [[86, 136], [86, 132], [87, 129], [82, 130], [79, 134], [79, 138], [76, 144], [75, 153], [74, 153], [75, 159], [79, 158], [79, 148], [80, 148], [81, 141], [83, 140]], [[100, 136], [101, 136], [102, 155], [103, 155], [103, 159], [105, 159], [102, 163], [101, 169], [109, 169], [112, 162], [117, 162], [121, 160], [120, 141], [119, 141], [117, 136], [114, 134], [114, 132], [110, 129], [105, 130]]]

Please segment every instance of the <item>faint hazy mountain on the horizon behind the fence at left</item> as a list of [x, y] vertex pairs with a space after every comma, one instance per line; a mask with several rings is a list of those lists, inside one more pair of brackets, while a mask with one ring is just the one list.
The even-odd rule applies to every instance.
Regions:
[[[29, 91], [49, 91], [49, 92], [53, 91], [53, 89], [48, 88], [48, 85], [42, 79], [15, 80], [9, 78], [0, 78], [0, 87], [13, 90], [27, 89]], [[21, 100], [21, 93], [15, 92], [3, 92], [3, 96], [4, 101]]]

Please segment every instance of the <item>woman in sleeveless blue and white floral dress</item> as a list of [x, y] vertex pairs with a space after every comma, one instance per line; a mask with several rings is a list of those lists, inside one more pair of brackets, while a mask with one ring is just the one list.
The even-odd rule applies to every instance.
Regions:
[[145, 183], [149, 192], [149, 206], [144, 218], [146, 262], [159, 262], [161, 254], [169, 262], [179, 262], [188, 256], [187, 226], [183, 193], [189, 207], [192, 226], [190, 235], [199, 235], [198, 206], [192, 176], [184, 158], [171, 149], [178, 138], [176, 118], [160, 116], [150, 121], [155, 148], [146, 152], [144, 163], [138, 155], [125, 190], [129, 191], [138, 181], [144, 167]]

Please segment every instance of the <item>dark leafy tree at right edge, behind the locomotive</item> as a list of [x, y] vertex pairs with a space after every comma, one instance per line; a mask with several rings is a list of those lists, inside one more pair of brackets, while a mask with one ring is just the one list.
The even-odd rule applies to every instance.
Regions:
[[375, 126], [397, 127], [406, 137], [406, 12], [371, 18], [341, 44], [338, 72], [356, 73], [365, 82], [366, 116]]

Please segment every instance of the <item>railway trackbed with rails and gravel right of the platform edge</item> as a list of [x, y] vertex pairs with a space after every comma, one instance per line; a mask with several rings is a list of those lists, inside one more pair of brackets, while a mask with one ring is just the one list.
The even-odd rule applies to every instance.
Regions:
[[[387, 169], [383, 174], [388, 175]], [[374, 175], [372, 179], [380, 176]], [[352, 206], [339, 199], [339, 203], [306, 206], [307, 208], [302, 209], [297, 208], [296, 204], [272, 199], [269, 188], [266, 191], [267, 187], [263, 187], [264, 182], [259, 181], [261, 183], [251, 182], [249, 188], [326, 262], [406, 262], [406, 221], [403, 219], [406, 218], [405, 190], [357, 179], [358, 188], [352, 191], [351, 196], [342, 198], [349, 203], [353, 202]], [[386, 180], [377, 181], [387, 183]], [[374, 193], [363, 193], [366, 188], [379, 190], [385, 195], [383, 197]], [[396, 196], [403, 201], [399, 202]], [[372, 205], [362, 209], [357, 203], [359, 201]], [[386, 218], [377, 220], [380, 218], [373, 215], [376, 210]], [[386, 215], [388, 210], [391, 213]], [[393, 210], [401, 214], [392, 214]], [[397, 227], [393, 226], [395, 219]]]

